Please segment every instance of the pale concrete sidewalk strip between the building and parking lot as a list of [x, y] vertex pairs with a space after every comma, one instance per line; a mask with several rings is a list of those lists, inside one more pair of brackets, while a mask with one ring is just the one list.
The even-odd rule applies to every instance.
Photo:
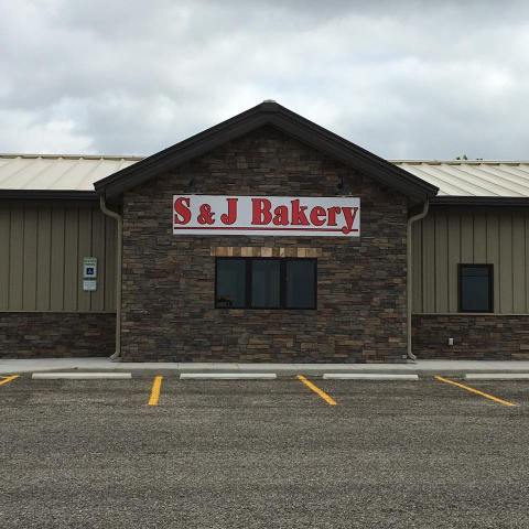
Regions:
[[376, 373], [388, 375], [466, 375], [467, 373], [529, 373], [529, 361], [417, 360], [414, 364], [235, 364], [111, 361], [108, 358], [0, 359], [0, 375], [36, 371], [132, 371], [147, 373], [276, 373], [278, 376], [324, 373]]

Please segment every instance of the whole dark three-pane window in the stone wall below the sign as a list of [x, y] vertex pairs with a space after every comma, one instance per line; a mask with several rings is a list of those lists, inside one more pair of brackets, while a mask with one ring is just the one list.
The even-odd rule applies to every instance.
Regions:
[[316, 259], [216, 259], [217, 309], [316, 309]]

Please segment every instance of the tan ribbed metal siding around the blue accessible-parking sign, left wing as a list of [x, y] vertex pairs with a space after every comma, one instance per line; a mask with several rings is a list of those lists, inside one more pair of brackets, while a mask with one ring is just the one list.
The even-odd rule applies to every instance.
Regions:
[[[83, 291], [97, 257], [97, 291]], [[116, 310], [116, 223], [95, 203], [0, 202], [0, 311]]]

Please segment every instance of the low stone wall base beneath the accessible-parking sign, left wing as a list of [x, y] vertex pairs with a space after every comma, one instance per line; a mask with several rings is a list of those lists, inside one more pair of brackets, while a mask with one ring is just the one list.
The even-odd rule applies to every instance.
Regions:
[[110, 356], [116, 314], [0, 312], [1, 358]]

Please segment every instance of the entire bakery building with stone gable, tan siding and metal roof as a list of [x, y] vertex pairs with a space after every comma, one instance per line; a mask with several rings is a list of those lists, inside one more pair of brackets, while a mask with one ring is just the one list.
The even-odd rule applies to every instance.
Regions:
[[145, 159], [0, 155], [0, 357], [529, 358], [529, 162], [274, 101]]

